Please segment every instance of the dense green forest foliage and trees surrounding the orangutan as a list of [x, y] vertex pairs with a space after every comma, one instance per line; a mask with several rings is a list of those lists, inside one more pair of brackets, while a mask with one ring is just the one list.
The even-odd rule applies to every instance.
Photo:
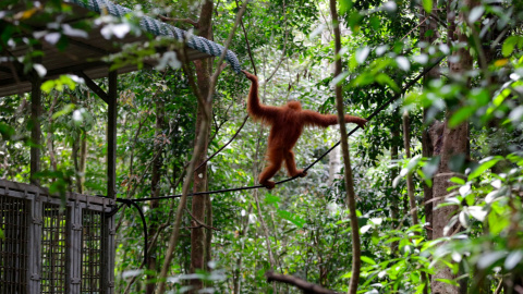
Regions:
[[[2, 2], [0, 13], [16, 1]], [[48, 1], [46, 10], [33, 14], [29, 2], [27, 14], [11, 15], [2, 23], [2, 57], [11, 42], [23, 41], [17, 38], [22, 29], [17, 22], [38, 13], [52, 15], [50, 23], [60, 22], [57, 13], [70, 13], [57, 5], [60, 1]], [[206, 1], [119, 1], [138, 5], [154, 17], [162, 13], [183, 19], [173, 24], [184, 29], [194, 28], [186, 19], [202, 21], [198, 17], [208, 7], [200, 2]], [[339, 76], [331, 70], [335, 35], [328, 1], [253, 1], [238, 23], [243, 4], [212, 3], [208, 37], [227, 44], [235, 29], [229, 48], [243, 69], [259, 76], [265, 103], [297, 99], [305, 109], [336, 113], [333, 85], [338, 84], [345, 112], [366, 118], [389, 99], [399, 99], [349, 140], [357, 224], [349, 221], [344, 168], [340, 150], [335, 149], [306, 177], [272, 191], [212, 194], [203, 212], [205, 225], [184, 210], [167, 289], [188, 291], [190, 281], [202, 279], [203, 286], [216, 293], [295, 293], [291, 285], [266, 281], [264, 274], [273, 270], [346, 292], [352, 277], [351, 225], [358, 225], [361, 293], [430, 293], [446, 285], [450, 287], [440, 293], [460, 293], [460, 287], [465, 293], [522, 293], [522, 4], [338, 1], [343, 64]], [[126, 25], [129, 34], [137, 29], [131, 15], [112, 21]], [[58, 48], [68, 39], [66, 32], [59, 33]], [[41, 41], [46, 40], [36, 36], [31, 40], [35, 48]], [[154, 53], [154, 44], [127, 50]], [[119, 66], [133, 57], [127, 51], [110, 60]], [[32, 57], [21, 62], [26, 70], [34, 65]], [[435, 70], [402, 91], [435, 62], [439, 62]], [[163, 69], [119, 76], [119, 197], [181, 194], [183, 183], [192, 181], [187, 169], [198, 144], [203, 110], [191, 84], [202, 65], [181, 65], [171, 62]], [[70, 75], [42, 86], [39, 176], [57, 193], [105, 195], [107, 107], [77, 81]], [[219, 75], [209, 102], [208, 156], [242, 125], [247, 82], [230, 66]], [[29, 182], [28, 100], [29, 94], [0, 98], [0, 175], [10, 181]], [[404, 142], [409, 130], [411, 139]], [[257, 184], [268, 131], [247, 121], [207, 163], [204, 188]], [[306, 131], [295, 147], [297, 166], [308, 166], [339, 138], [336, 127]], [[283, 179], [283, 171], [277, 174], [277, 180]], [[141, 204], [154, 243], [146, 270], [141, 267], [139, 217], [132, 209], [118, 213], [117, 293], [154, 291], [179, 204], [179, 198]], [[187, 211], [193, 205], [188, 201]], [[205, 243], [198, 257], [205, 261], [203, 268], [194, 268], [196, 257], [191, 255], [196, 230], [203, 232]]]

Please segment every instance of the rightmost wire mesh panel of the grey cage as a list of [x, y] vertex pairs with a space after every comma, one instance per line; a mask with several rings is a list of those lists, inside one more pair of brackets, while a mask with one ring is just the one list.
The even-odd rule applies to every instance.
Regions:
[[100, 293], [102, 291], [104, 223], [104, 215], [100, 211], [83, 210], [82, 293]]

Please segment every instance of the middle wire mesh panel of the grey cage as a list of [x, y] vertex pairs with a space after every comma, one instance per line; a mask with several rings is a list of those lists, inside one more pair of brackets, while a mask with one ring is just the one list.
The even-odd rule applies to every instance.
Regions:
[[44, 204], [41, 229], [41, 293], [66, 293], [66, 213], [59, 205]]

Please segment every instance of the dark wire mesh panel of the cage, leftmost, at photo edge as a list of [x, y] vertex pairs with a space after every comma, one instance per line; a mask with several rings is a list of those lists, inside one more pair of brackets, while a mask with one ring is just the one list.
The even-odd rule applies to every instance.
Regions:
[[0, 196], [0, 293], [27, 293], [27, 200]]

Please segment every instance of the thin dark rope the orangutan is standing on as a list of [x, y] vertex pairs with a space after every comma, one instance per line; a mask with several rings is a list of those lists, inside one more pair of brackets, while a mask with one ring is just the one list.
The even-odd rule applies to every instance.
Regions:
[[[417, 83], [417, 81], [419, 81], [419, 78], [422, 78], [425, 74], [427, 74], [430, 70], [433, 70], [436, 65], [438, 65], [441, 60], [443, 60], [445, 56], [440, 57], [435, 63], [433, 63], [428, 68], [425, 68], [425, 70], [418, 74], [414, 79], [412, 79], [411, 82], [409, 82], [398, 94], [396, 94], [393, 97], [391, 97], [389, 100], [387, 100], [387, 102], [385, 102], [384, 105], [381, 105], [380, 107], [378, 107], [370, 115], [368, 115], [366, 118], [367, 121], [370, 121], [372, 119], [374, 119], [379, 112], [384, 111], [384, 109], [386, 109], [388, 106], [390, 106], [393, 101], [398, 100], [401, 95], [403, 95], [410, 87], [412, 87], [415, 83]], [[357, 128], [360, 128], [360, 126], [356, 126], [354, 127], [351, 132], [348, 133], [348, 136], [351, 136], [352, 134], [354, 134]], [[314, 167], [316, 163], [318, 163], [318, 161], [320, 161], [324, 157], [326, 157], [330, 151], [332, 151], [336, 147], [338, 147], [338, 145], [340, 145], [340, 142], [338, 142], [337, 144], [335, 144], [332, 147], [330, 147], [325, 154], [323, 154], [320, 157], [318, 157], [313, 163], [308, 164], [308, 167], [306, 167], [304, 169], [304, 171], [307, 171], [309, 170], [312, 167]], [[287, 183], [287, 182], [290, 182], [290, 181], [293, 181], [295, 179], [300, 177], [299, 175], [295, 175], [295, 176], [292, 176], [292, 177], [288, 177], [285, 180], [282, 180], [282, 181], [279, 181], [276, 183], [276, 185], [279, 185], [279, 184], [283, 184], [283, 183]], [[246, 189], [255, 189], [255, 188], [260, 188], [260, 187], [265, 187], [264, 185], [255, 185], [255, 186], [244, 186], [244, 187], [238, 187], [238, 188], [226, 188], [226, 189], [217, 189], [217, 191], [207, 191], [207, 192], [196, 192], [196, 193], [190, 193], [187, 194], [187, 196], [202, 196], [202, 195], [211, 195], [211, 194], [218, 194], [218, 193], [227, 193], [227, 192], [236, 192], [236, 191], [246, 191]], [[182, 194], [178, 194], [178, 195], [168, 195], [168, 196], [160, 196], [160, 197], [150, 197], [150, 198], [139, 198], [139, 199], [126, 199], [127, 201], [132, 201], [132, 203], [142, 203], [142, 201], [149, 201], [149, 200], [163, 200], [163, 199], [172, 199], [172, 198], [180, 198], [182, 197]], [[120, 199], [120, 198], [118, 198]], [[117, 200], [118, 200], [117, 199]]]

